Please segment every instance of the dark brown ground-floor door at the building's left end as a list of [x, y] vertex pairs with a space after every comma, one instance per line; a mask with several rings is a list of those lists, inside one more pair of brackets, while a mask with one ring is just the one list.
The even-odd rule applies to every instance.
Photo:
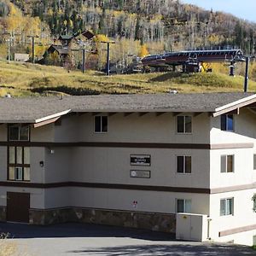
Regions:
[[7, 192], [7, 221], [29, 223], [30, 194]]

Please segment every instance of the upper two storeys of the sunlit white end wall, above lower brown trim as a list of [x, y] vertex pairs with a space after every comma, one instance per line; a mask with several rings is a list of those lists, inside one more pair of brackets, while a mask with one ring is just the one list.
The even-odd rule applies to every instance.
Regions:
[[[256, 182], [256, 171], [253, 171], [253, 154], [256, 154], [256, 113], [241, 108], [240, 114], [234, 115], [235, 131], [221, 131], [220, 117], [212, 118], [211, 124], [211, 143], [253, 143], [253, 148], [211, 151], [211, 187], [217, 187], [218, 184], [225, 186]], [[221, 175], [221, 154], [235, 154], [235, 173]], [[228, 178], [222, 179], [225, 176]]]

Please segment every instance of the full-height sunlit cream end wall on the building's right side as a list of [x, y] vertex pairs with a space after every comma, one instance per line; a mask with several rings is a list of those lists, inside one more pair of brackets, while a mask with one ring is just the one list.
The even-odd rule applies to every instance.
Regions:
[[[253, 148], [214, 149], [210, 153], [210, 186], [225, 188], [247, 185], [256, 182], [256, 171], [253, 170], [253, 154], [256, 153], [256, 113], [241, 108], [240, 114], [234, 115], [235, 131], [221, 131], [220, 117], [211, 119], [211, 143], [254, 143]], [[220, 172], [220, 157], [222, 154], [234, 154], [235, 172]], [[241, 232], [230, 236], [218, 237], [218, 232], [256, 224], [256, 213], [253, 212], [253, 193], [256, 189], [238, 190], [211, 195], [210, 218], [211, 237], [215, 241], [235, 241], [252, 245], [256, 230]], [[220, 200], [234, 197], [234, 216], [220, 216]]]

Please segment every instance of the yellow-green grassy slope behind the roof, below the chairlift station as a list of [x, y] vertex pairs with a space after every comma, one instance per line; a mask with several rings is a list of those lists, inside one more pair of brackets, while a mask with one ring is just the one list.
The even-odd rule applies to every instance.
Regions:
[[[28, 63], [0, 61], [0, 96], [38, 95], [62, 91], [71, 95], [242, 91], [243, 77], [223, 73], [146, 73], [114, 75], [78, 71], [67, 72], [61, 67], [47, 67]], [[249, 90], [256, 90], [250, 81]]]

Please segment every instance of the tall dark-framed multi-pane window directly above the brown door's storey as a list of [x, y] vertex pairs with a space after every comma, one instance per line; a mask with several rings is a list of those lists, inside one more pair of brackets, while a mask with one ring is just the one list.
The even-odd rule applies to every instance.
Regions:
[[9, 147], [8, 179], [30, 181], [30, 148]]

